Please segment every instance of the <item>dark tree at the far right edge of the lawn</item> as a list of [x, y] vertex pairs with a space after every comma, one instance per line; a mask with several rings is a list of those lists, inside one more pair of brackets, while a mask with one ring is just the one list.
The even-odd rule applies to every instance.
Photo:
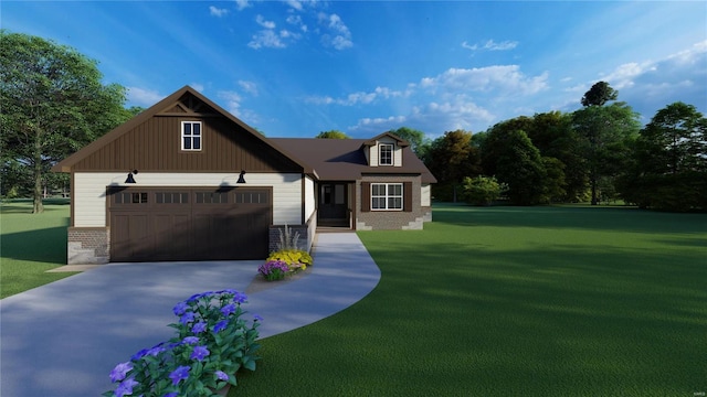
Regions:
[[636, 140], [623, 195], [642, 207], [707, 210], [707, 118], [692, 105], [658, 110]]

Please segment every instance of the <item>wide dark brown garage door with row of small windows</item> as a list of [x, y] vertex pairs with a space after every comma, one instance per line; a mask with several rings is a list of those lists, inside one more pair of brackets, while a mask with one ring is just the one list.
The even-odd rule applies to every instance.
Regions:
[[263, 259], [270, 187], [112, 187], [110, 260]]

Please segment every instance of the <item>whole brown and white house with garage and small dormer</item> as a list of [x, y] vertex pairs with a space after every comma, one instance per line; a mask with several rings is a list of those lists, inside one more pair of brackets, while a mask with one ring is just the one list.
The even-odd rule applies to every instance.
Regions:
[[68, 264], [263, 259], [284, 225], [421, 229], [436, 182], [408, 142], [266, 138], [186, 86], [54, 167]]

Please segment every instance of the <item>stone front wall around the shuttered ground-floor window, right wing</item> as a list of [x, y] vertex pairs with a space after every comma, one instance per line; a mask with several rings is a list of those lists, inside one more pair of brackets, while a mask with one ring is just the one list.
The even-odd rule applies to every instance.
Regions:
[[412, 182], [412, 212], [405, 211], [371, 211], [361, 212], [361, 181], [356, 182], [356, 197], [358, 211], [356, 213], [357, 230], [378, 230], [378, 229], [400, 229], [400, 230], [421, 230], [425, 222], [432, 221], [432, 207], [421, 206], [422, 201], [422, 182], [420, 176], [404, 175], [368, 175], [363, 176], [362, 182], [371, 183], [403, 183]]

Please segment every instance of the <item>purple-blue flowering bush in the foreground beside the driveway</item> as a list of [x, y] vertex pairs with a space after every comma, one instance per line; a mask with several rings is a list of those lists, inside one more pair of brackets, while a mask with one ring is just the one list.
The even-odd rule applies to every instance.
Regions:
[[242, 303], [247, 297], [235, 290], [198, 293], [173, 308], [179, 321], [169, 326], [177, 336], [137, 352], [110, 372], [118, 383], [105, 397], [218, 396], [235, 386], [241, 368], [255, 371], [255, 342], [262, 318], [249, 322]]

